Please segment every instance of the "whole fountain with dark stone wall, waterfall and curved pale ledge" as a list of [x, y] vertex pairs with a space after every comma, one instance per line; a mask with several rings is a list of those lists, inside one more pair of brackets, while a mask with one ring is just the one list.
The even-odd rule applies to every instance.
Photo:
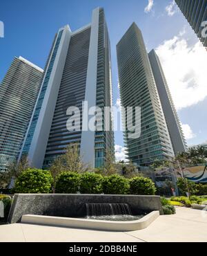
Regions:
[[146, 228], [159, 214], [159, 196], [15, 194], [8, 222], [132, 231]]

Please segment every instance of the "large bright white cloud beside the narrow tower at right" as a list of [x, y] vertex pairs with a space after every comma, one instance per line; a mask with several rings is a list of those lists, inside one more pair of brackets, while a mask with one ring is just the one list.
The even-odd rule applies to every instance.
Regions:
[[181, 31], [156, 49], [177, 109], [197, 104], [207, 96], [206, 49], [200, 42], [190, 46], [185, 36]]

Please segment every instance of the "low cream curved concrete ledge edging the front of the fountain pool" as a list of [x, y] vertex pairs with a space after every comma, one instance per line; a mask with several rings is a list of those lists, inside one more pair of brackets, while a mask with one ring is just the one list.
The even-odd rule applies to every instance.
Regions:
[[150, 214], [147, 214], [137, 221], [99, 221], [93, 219], [75, 219], [27, 214], [21, 217], [21, 223], [125, 232], [147, 228], [152, 221], [157, 219], [157, 217], [159, 217], [159, 211], [150, 212]]

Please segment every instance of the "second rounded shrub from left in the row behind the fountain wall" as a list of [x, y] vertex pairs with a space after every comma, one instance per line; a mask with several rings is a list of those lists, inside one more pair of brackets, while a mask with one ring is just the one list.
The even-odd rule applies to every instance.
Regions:
[[76, 194], [79, 191], [80, 174], [76, 172], [61, 172], [57, 176], [56, 193]]

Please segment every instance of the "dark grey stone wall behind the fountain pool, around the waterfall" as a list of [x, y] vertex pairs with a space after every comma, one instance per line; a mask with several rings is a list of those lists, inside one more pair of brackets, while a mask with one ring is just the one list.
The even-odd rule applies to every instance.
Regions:
[[86, 216], [86, 203], [128, 203], [132, 214], [159, 210], [163, 214], [159, 196], [106, 194], [15, 194], [9, 223], [21, 220], [23, 214], [57, 217]]

